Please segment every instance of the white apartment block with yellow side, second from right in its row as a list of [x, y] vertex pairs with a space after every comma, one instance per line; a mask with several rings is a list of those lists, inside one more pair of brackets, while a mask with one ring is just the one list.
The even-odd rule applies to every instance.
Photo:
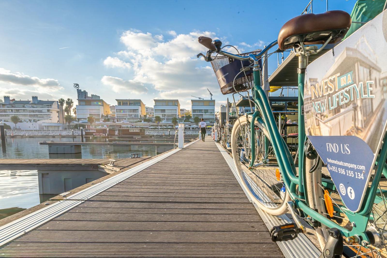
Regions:
[[180, 117], [178, 99], [154, 99], [154, 116], [160, 116], [163, 122], [172, 122], [172, 118]]

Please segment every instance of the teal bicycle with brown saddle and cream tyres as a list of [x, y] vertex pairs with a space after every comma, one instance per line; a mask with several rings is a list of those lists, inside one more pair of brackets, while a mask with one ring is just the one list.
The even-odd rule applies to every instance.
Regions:
[[[219, 83], [223, 83], [223, 94], [247, 91], [252, 95], [255, 111], [239, 116], [233, 126], [232, 155], [252, 200], [269, 214], [290, 212], [295, 220], [293, 224], [273, 228], [272, 240], [294, 239], [305, 232], [301, 223], [305, 220], [316, 231], [321, 257], [341, 257], [343, 244], [353, 251], [351, 257], [387, 257], [387, 144], [378, 152], [361, 208], [351, 212], [305, 134], [303, 107], [308, 56], [319, 53], [327, 44], [341, 41], [350, 26], [351, 17], [343, 11], [301, 15], [288, 21], [278, 39], [262, 51], [232, 54], [222, 50], [220, 40], [202, 36], [199, 43], [209, 51], [197, 57], [212, 62]], [[278, 48], [269, 53], [275, 46]], [[298, 57], [297, 167], [278, 130], [261, 78], [262, 57], [288, 49], [293, 49]], [[224, 65], [230, 63], [235, 63], [231, 70]], [[228, 75], [233, 75], [233, 79], [227, 79]]]

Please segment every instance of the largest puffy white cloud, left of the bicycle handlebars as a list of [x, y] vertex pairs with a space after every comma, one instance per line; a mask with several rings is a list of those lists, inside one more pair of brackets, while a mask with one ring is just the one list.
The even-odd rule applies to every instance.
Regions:
[[[126, 49], [116, 53], [119, 58], [115, 62], [120, 63], [116, 67], [121, 67], [121, 62], [130, 64], [133, 72], [131, 79], [150, 85], [158, 91], [156, 97], [177, 98], [180, 103], [190, 103], [191, 95], [209, 98], [206, 89], [209, 88], [215, 98], [220, 92], [211, 64], [196, 55], [207, 51], [197, 38], [207, 36], [217, 39], [216, 34], [210, 31], [187, 34], [167, 31], [164, 35], [167, 37], [135, 29], [123, 32], [120, 40]], [[227, 44], [225, 38], [222, 41], [225, 42], [223, 45]], [[247, 45], [240, 44], [241, 53]]]

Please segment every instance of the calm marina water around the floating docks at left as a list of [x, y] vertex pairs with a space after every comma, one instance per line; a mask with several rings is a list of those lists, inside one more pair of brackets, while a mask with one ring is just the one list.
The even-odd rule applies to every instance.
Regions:
[[[106, 138], [85, 138], [86, 142], [106, 142]], [[5, 159], [119, 159], [139, 156], [153, 156], [172, 149], [172, 146], [122, 146], [83, 145], [82, 154], [48, 154], [43, 141], [80, 142], [80, 137], [7, 137], [2, 148]], [[6, 150], [6, 151], [5, 151]], [[37, 170], [0, 171], [0, 219], [45, 202], [55, 195], [40, 195]]]

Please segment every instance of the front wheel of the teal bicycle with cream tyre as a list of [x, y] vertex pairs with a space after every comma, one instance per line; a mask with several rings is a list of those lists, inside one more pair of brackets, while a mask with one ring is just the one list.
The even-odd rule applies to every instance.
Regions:
[[[251, 139], [251, 130], [255, 131], [255, 139]], [[240, 117], [231, 133], [231, 151], [242, 186], [250, 198], [265, 212], [282, 215], [288, 210], [286, 202], [290, 198], [276, 166], [276, 156], [265, 153], [264, 137], [269, 135], [260, 123], [250, 128], [247, 118]], [[255, 165], [249, 169], [252, 144], [255, 144]]]

